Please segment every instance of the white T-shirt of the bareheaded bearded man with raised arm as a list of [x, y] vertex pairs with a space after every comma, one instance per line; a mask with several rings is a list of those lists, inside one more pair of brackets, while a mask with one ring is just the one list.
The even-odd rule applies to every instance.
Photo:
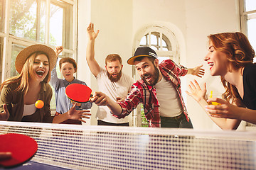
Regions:
[[[122, 76], [117, 82], [112, 82], [107, 77], [107, 70], [100, 68], [100, 73], [96, 77], [98, 90], [109, 96], [113, 101], [117, 101], [117, 97], [126, 98], [127, 94], [131, 90], [133, 79], [127, 74], [122, 72]], [[107, 106], [99, 106], [96, 114], [98, 120], [105, 121], [107, 123], [128, 123], [128, 115], [125, 118], [115, 118]]]

